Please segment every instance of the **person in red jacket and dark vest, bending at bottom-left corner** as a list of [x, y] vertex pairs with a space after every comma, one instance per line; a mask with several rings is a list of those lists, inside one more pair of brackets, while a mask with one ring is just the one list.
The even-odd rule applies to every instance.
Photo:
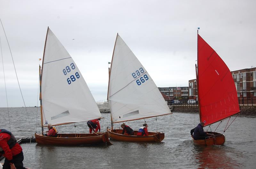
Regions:
[[23, 152], [14, 135], [6, 130], [0, 129], [0, 157], [5, 157], [3, 169], [26, 169], [23, 167]]

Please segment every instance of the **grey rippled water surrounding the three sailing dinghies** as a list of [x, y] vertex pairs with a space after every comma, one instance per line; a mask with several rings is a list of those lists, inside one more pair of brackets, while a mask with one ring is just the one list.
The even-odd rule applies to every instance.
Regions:
[[[40, 109], [10, 108], [13, 134], [33, 135], [40, 132]], [[38, 114], [37, 114], [38, 112]], [[37, 129], [36, 129], [37, 114]], [[30, 119], [30, 127], [28, 123]], [[110, 125], [110, 114], [102, 114], [102, 130]], [[171, 116], [145, 119], [149, 131], [164, 131], [162, 143], [126, 143], [111, 140], [113, 145], [43, 146], [36, 143], [21, 144], [24, 165], [29, 168], [255, 168], [256, 167], [256, 118], [237, 117], [225, 132], [222, 146], [195, 146], [190, 130], [197, 125], [198, 114], [174, 112]], [[231, 118], [233, 120], [234, 117]], [[230, 120], [230, 121], [231, 121]], [[138, 130], [144, 120], [127, 122]], [[227, 120], [217, 132], [223, 133]], [[212, 125], [215, 130], [219, 123]], [[118, 124], [115, 125], [118, 127]], [[0, 128], [10, 130], [7, 108], [0, 108]], [[119, 128], [119, 127], [118, 127]], [[205, 127], [207, 130], [208, 127]], [[59, 132], [75, 133], [74, 124], [57, 126]], [[210, 129], [209, 129], [210, 130]], [[76, 132], [89, 132], [86, 123], [76, 123]], [[3, 160], [1, 161], [3, 162]]]

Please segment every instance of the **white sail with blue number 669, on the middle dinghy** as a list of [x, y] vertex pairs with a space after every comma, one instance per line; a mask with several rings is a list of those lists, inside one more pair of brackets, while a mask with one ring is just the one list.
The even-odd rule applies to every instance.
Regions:
[[171, 113], [147, 70], [118, 34], [111, 63], [108, 102], [113, 123]]

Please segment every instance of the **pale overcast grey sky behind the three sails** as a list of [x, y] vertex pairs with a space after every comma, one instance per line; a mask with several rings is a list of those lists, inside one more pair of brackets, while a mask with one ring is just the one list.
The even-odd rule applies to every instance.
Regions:
[[[195, 79], [197, 27], [231, 71], [256, 67], [256, 1], [1, 0], [0, 18], [26, 106], [37, 105], [38, 59], [48, 26], [95, 101], [107, 99], [117, 32], [157, 87], [188, 86]], [[2, 26], [0, 36], [9, 107], [24, 106]], [[0, 107], [6, 107], [2, 55], [0, 71]]]

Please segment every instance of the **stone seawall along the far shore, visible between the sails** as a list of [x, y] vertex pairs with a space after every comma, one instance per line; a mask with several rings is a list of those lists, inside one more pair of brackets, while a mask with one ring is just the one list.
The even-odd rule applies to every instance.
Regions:
[[[100, 113], [110, 113], [108, 102], [97, 103]], [[172, 112], [199, 113], [197, 105], [171, 105]], [[240, 106], [240, 116], [256, 116], [256, 106]]]

